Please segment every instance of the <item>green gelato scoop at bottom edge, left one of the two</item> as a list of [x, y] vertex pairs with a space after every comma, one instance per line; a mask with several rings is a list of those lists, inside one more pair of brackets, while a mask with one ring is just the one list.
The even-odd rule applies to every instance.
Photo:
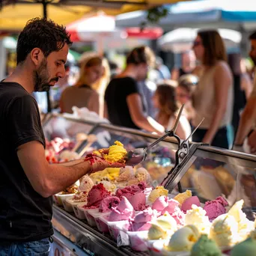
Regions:
[[222, 256], [222, 252], [213, 240], [203, 234], [192, 247], [191, 256]]

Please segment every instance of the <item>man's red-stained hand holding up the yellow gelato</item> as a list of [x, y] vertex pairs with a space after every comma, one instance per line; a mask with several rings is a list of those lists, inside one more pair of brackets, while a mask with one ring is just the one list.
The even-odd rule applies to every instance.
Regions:
[[121, 168], [124, 167], [124, 163], [120, 162], [109, 162], [104, 159], [104, 155], [109, 153], [108, 148], [103, 148], [101, 150], [97, 150], [98, 153], [89, 153], [85, 156], [85, 162], [89, 162], [91, 165], [91, 171], [88, 174], [103, 171], [106, 168]]

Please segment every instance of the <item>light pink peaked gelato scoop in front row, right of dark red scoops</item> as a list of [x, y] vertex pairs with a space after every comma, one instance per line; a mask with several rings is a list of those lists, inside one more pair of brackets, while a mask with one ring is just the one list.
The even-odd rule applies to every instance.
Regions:
[[118, 204], [118, 207], [112, 208], [112, 211], [109, 215], [109, 222], [120, 222], [123, 220], [129, 220], [135, 216], [135, 210], [132, 207], [132, 204], [123, 197], [121, 202]]

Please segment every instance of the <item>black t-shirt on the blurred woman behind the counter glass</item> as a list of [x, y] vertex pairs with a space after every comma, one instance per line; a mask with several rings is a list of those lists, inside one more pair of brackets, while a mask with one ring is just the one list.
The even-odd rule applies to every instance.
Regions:
[[129, 114], [127, 97], [130, 94], [139, 94], [135, 79], [131, 77], [112, 79], [105, 92], [109, 121], [121, 127], [140, 129], [133, 123]]

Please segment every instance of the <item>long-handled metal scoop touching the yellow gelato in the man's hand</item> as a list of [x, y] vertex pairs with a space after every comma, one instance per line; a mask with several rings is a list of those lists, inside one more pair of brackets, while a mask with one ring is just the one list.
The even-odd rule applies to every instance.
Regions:
[[127, 162], [126, 165], [135, 166], [138, 165], [140, 162], [143, 162], [147, 158], [147, 152], [150, 150], [150, 148], [154, 147], [156, 144], [158, 144], [160, 141], [164, 140], [168, 136], [172, 136], [176, 138], [175, 132], [177, 129], [177, 125], [180, 121], [180, 116], [183, 112], [184, 105], [181, 106], [179, 114], [177, 115], [174, 127], [165, 133], [165, 135], [162, 135], [161, 138], [154, 141], [152, 144], [150, 144], [148, 147], [145, 148], [135, 148], [135, 150], [130, 150], [127, 153]]

